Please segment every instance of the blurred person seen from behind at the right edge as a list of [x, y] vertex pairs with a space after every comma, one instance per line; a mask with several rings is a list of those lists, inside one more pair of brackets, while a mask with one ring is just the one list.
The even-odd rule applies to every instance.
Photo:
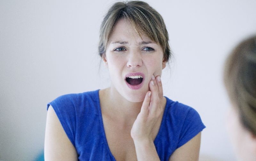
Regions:
[[228, 131], [238, 160], [256, 160], [256, 36], [236, 46], [225, 63], [232, 103]]

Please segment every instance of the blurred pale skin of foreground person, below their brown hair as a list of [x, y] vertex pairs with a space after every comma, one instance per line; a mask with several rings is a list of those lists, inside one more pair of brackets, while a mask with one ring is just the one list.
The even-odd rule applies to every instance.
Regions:
[[236, 158], [238, 161], [256, 160], [256, 136], [242, 126], [234, 107], [228, 112], [226, 125]]

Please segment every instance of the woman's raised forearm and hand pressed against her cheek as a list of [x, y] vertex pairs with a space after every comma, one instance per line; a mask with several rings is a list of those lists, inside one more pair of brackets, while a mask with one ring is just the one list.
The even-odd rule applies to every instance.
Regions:
[[[157, 81], [156, 81], [157, 78]], [[156, 121], [164, 112], [162, 106], [163, 88], [160, 76], [153, 75], [137, 119], [133, 123], [131, 136], [135, 145], [138, 161], [160, 161], [157, 154], [152, 131]]]

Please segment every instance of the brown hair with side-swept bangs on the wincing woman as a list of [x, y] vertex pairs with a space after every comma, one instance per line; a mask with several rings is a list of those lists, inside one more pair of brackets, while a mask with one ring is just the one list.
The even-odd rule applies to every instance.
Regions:
[[148, 3], [142, 1], [116, 2], [108, 10], [100, 26], [99, 54], [105, 56], [108, 40], [116, 22], [124, 18], [132, 24], [141, 38], [141, 32], [155, 41], [164, 51], [164, 60], [171, 57], [169, 36], [162, 16]]

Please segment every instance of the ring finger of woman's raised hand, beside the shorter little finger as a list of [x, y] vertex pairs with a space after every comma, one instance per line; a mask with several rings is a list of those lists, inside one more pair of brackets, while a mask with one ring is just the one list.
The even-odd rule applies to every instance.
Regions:
[[158, 92], [157, 92], [157, 84], [154, 83], [154, 81], [150, 81], [149, 82], [149, 88], [151, 93], [151, 100], [149, 103], [149, 111], [148, 113], [152, 113], [154, 115], [154, 113], [156, 112], [157, 108], [159, 107], [159, 96], [158, 96]]

